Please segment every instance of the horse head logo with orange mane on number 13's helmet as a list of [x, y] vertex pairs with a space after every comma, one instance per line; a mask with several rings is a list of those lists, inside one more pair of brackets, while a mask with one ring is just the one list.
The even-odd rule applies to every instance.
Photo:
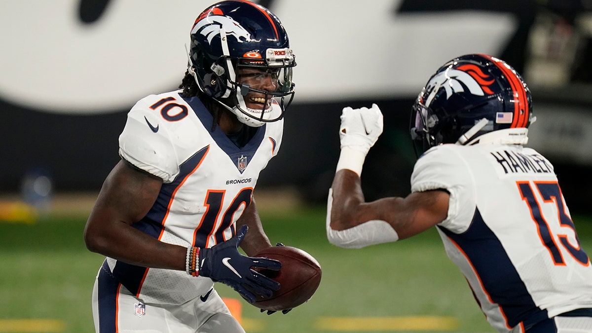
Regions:
[[436, 97], [437, 92], [440, 91], [440, 88], [445, 89], [447, 100], [452, 94], [464, 92], [465, 88], [473, 95], [493, 95], [494, 92], [488, 86], [496, 80], [494, 78], [488, 78], [490, 76], [482, 72], [475, 65], [462, 65], [456, 69], [447, 69], [446, 71], [437, 73], [430, 79], [430, 82], [427, 82], [426, 90], [430, 93], [424, 103], [429, 106], [433, 98]]

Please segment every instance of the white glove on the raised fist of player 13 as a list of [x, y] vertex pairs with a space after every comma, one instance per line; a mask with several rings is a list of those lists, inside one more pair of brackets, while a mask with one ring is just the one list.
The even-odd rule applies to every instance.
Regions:
[[343, 108], [339, 139], [341, 148], [349, 147], [366, 155], [382, 133], [382, 113], [378, 105], [371, 108]]

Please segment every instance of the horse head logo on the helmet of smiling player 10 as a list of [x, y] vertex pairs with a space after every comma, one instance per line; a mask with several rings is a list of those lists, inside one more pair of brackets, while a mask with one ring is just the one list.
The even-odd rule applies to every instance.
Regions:
[[[200, 31], [201, 30], [201, 31]], [[213, 8], [211, 11], [204, 12], [200, 17], [195, 20], [195, 24], [191, 29], [191, 33], [197, 33], [204, 35], [208, 43], [212, 43], [212, 39], [220, 34], [220, 31], [224, 30], [226, 36], [234, 36], [239, 43], [244, 41], [252, 41], [251, 34], [245, 28], [242, 27], [237, 21], [229, 16], [224, 16], [220, 8]]]

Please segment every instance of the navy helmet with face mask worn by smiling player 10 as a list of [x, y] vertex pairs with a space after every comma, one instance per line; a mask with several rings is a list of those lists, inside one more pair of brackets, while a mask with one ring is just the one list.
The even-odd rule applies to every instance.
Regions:
[[[191, 29], [189, 72], [201, 91], [249, 126], [282, 119], [294, 97], [292, 68], [296, 66], [288, 34], [279, 19], [253, 2], [229, 0], [208, 7]], [[275, 91], [240, 84], [241, 68], [257, 68], [271, 76]], [[256, 92], [262, 108], [247, 107], [244, 97]]]

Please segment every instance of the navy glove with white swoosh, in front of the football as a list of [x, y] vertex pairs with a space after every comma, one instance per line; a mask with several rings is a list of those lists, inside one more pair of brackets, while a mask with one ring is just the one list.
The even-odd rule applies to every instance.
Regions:
[[278, 271], [282, 264], [277, 260], [251, 258], [240, 254], [239, 244], [246, 233], [247, 226], [243, 225], [228, 241], [211, 248], [200, 248], [198, 272], [200, 276], [209, 277], [215, 282], [232, 287], [244, 299], [253, 303], [257, 300], [256, 294], [271, 297], [273, 291], [279, 289], [279, 283], [257, 273], [251, 267]]

